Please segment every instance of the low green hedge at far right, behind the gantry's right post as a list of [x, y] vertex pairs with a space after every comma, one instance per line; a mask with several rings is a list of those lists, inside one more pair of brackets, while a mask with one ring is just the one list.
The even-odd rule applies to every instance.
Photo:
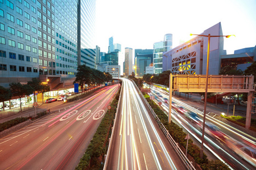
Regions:
[[[233, 122], [237, 125], [240, 125], [242, 127], [245, 127], [245, 122], [246, 122], [246, 117], [242, 116], [222, 116], [221, 117], [225, 118], [226, 120], [229, 120], [230, 122]], [[251, 127], [250, 130], [256, 131], [256, 119], [251, 118]]]

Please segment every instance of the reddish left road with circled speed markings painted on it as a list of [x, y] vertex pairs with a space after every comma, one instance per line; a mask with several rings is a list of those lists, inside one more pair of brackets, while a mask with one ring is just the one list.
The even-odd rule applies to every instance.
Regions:
[[75, 169], [118, 86], [0, 139], [0, 169]]

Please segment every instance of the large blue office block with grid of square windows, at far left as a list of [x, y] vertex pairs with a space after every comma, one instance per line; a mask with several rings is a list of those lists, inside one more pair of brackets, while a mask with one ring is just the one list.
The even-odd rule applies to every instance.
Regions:
[[0, 5], [0, 85], [36, 77], [49, 79], [51, 90], [68, 86], [60, 78], [76, 75], [77, 1], [6, 0]]

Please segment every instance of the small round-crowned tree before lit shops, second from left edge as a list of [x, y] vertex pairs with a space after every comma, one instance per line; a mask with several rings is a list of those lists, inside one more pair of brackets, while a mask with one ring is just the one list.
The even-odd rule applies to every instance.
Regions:
[[[31, 95], [34, 89], [28, 84], [20, 84], [19, 82], [10, 83], [10, 90], [14, 96], [19, 96], [19, 101], [23, 95]], [[22, 111], [20, 102], [20, 111]]]

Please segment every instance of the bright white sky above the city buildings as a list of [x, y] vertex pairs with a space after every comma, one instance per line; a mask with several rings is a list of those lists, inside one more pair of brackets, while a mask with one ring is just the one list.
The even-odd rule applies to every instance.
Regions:
[[[221, 22], [227, 54], [256, 45], [256, 0], [97, 0], [96, 45], [108, 52], [109, 38], [125, 48], [153, 49], [172, 33], [172, 48]], [[124, 55], [123, 55], [124, 56]], [[119, 58], [122, 66], [124, 57]], [[134, 57], [134, 54], [133, 54]], [[121, 72], [122, 73], [122, 72]]]

